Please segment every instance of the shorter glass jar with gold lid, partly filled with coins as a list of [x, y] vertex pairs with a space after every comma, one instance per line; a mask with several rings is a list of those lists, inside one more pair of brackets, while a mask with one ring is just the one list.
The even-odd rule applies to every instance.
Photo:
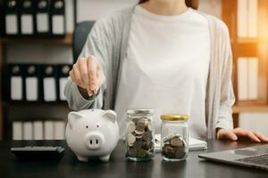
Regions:
[[180, 161], [188, 156], [188, 116], [162, 115], [161, 147], [165, 161]]

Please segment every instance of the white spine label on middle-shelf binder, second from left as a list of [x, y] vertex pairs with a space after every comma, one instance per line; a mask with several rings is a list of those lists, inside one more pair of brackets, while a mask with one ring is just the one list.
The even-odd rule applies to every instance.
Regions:
[[38, 100], [38, 78], [26, 77], [26, 100], [37, 101]]

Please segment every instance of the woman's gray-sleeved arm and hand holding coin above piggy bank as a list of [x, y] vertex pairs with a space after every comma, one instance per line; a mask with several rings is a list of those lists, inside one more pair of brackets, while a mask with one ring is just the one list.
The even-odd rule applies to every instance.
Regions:
[[80, 58], [73, 65], [71, 80], [64, 89], [71, 109], [103, 108], [105, 76], [112, 48], [105, 19], [96, 21], [80, 53]]

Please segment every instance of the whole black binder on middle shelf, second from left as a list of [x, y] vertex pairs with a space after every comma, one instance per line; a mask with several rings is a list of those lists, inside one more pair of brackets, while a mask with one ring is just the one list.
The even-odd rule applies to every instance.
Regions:
[[38, 65], [27, 65], [25, 67], [25, 93], [26, 101], [38, 101], [39, 100], [39, 82], [40, 75]]

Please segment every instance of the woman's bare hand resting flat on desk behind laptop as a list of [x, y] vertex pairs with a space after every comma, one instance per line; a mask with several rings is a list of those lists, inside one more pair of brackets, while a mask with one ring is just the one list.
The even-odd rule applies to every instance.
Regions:
[[246, 138], [252, 142], [268, 142], [268, 138], [264, 134], [260, 134], [256, 131], [248, 131], [241, 128], [235, 128], [232, 130], [218, 129], [217, 138], [222, 140], [237, 141], [239, 138]]

